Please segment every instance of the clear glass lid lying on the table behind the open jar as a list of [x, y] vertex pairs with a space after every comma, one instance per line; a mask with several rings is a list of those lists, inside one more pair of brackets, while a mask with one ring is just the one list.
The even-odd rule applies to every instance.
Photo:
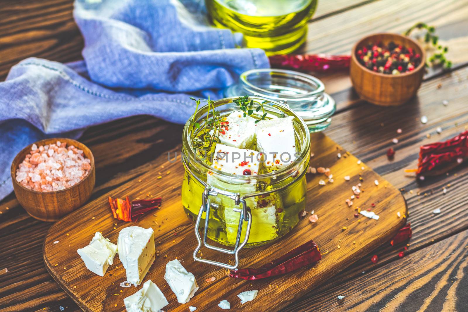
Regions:
[[277, 101], [294, 110], [310, 132], [326, 129], [335, 113], [335, 100], [325, 93], [318, 78], [284, 69], [252, 69], [242, 73], [239, 81], [227, 87], [223, 96], [236, 94], [260, 96]]

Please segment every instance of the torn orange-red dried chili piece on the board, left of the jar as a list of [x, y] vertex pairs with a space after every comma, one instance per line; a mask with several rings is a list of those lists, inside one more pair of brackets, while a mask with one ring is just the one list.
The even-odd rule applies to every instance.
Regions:
[[162, 198], [140, 199], [130, 202], [130, 199], [125, 200], [120, 198], [109, 197], [109, 205], [114, 218], [124, 220], [126, 222], [137, 221], [139, 216], [149, 210], [159, 208]]

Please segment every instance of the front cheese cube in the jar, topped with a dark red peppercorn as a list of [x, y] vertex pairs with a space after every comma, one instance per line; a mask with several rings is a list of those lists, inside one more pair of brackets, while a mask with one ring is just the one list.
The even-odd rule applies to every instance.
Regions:
[[260, 166], [257, 156], [254, 150], [217, 143], [211, 167], [229, 174], [257, 175]]

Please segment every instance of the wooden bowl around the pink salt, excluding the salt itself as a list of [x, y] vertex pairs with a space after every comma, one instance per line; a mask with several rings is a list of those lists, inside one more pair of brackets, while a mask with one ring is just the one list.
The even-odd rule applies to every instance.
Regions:
[[83, 180], [72, 187], [59, 191], [38, 192], [26, 189], [16, 181], [16, 170], [18, 169], [19, 164], [22, 163], [26, 155], [30, 152], [32, 144], [19, 152], [11, 164], [11, 179], [13, 181], [13, 188], [15, 189], [15, 195], [16, 198], [18, 198], [18, 202], [20, 202], [31, 217], [42, 221], [57, 221], [62, 216], [65, 216], [83, 205], [83, 203], [85, 203], [91, 196], [95, 183], [94, 157], [89, 148], [84, 144], [69, 138], [48, 138], [36, 142], [36, 145], [52, 144], [57, 141], [66, 142], [66, 146], [76, 146], [78, 149], [83, 150], [83, 154], [86, 158], [91, 160], [91, 169], [89, 169], [88, 174], [83, 178]]

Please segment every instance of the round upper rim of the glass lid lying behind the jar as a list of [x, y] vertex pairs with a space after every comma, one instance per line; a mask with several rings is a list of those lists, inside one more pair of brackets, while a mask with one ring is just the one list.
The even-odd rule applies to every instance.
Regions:
[[[254, 85], [250, 80], [249, 76], [259, 75], [263, 73], [270, 73], [270, 75], [282, 75], [286, 78], [301, 80], [304, 83], [307, 83], [310, 86], [314, 87], [313, 91], [307, 93], [297, 93], [297, 94], [285, 94], [280, 92], [274, 92], [262, 87]], [[241, 73], [239, 81], [244, 85], [252, 94], [266, 97], [268, 99], [274, 99], [277, 101], [288, 101], [288, 100], [314, 100], [317, 96], [321, 95], [325, 91], [325, 85], [323, 82], [311, 75], [306, 73], [300, 73], [295, 71], [290, 71], [286, 69], [274, 69], [274, 68], [260, 68], [260, 69], [251, 69], [246, 72]]]

